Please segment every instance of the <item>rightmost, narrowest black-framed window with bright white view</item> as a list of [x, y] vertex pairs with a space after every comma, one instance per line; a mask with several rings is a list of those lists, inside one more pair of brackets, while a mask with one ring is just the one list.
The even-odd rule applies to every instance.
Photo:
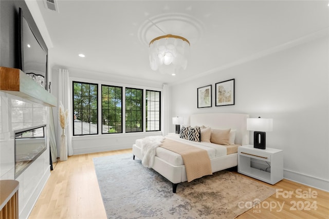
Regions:
[[161, 92], [146, 90], [146, 131], [160, 131]]

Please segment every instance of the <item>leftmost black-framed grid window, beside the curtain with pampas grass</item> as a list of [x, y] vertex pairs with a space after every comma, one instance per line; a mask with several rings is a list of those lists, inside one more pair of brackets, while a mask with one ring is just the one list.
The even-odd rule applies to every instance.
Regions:
[[73, 82], [73, 135], [98, 134], [98, 85]]

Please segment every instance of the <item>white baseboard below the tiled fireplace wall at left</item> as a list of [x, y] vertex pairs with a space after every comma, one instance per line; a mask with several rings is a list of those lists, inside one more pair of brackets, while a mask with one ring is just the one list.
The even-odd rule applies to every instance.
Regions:
[[49, 165], [48, 171], [45, 171], [45, 173], [43, 174], [41, 180], [39, 181], [38, 186], [35, 187], [29, 201], [26, 203], [23, 210], [21, 211], [20, 216], [19, 216], [20, 218], [28, 218], [29, 217], [36, 201], [38, 201], [38, 198], [39, 198], [43, 188], [45, 187], [45, 185], [48, 181], [49, 176], [50, 176], [50, 165]]

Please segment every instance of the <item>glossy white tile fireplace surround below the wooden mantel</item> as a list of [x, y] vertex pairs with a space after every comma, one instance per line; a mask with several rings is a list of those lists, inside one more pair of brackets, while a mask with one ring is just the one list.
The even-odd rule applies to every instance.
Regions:
[[49, 107], [0, 91], [0, 180], [20, 182], [20, 218], [28, 217], [50, 176], [49, 147], [15, 179], [14, 131], [43, 124], [49, 136]]

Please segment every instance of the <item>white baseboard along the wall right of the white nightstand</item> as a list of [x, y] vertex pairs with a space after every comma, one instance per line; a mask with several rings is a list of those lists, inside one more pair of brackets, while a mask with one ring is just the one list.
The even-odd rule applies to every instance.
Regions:
[[324, 178], [299, 173], [293, 170], [283, 170], [283, 177], [306, 186], [314, 187], [329, 192], [329, 180]]

